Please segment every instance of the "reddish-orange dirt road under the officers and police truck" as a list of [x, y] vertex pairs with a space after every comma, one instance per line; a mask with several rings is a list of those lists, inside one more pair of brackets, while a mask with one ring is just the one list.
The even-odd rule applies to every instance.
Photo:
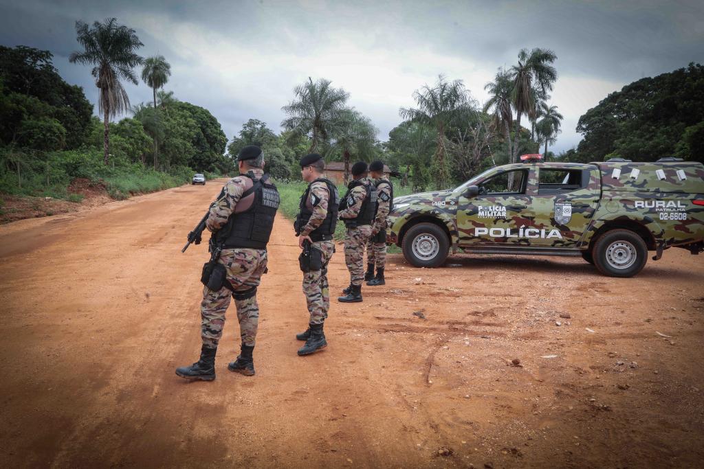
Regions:
[[[279, 215], [256, 376], [226, 369], [231, 309], [218, 379], [178, 378], [207, 257], [180, 249], [219, 189], [0, 226], [4, 466], [702, 465], [704, 258], [684, 250], [631, 279], [582, 259], [391, 255], [386, 286], [333, 302], [329, 347], [298, 357], [307, 313]], [[337, 295], [341, 247], [330, 270]]]

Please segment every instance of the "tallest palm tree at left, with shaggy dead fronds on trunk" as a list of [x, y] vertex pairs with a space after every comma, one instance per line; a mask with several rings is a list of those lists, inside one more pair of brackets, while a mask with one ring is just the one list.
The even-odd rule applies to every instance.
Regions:
[[95, 65], [91, 74], [95, 77], [95, 86], [99, 89], [98, 110], [103, 113], [103, 153], [107, 165], [110, 118], [130, 108], [130, 98], [122, 88], [120, 79], [139, 84], [132, 69], [141, 65], [144, 60], [136, 53], [144, 44], [139, 41], [134, 30], [118, 25], [115, 18], [109, 18], [103, 23], [96, 21], [93, 27], [77, 21], [76, 34], [78, 44], [83, 46], [84, 50], [71, 53], [68, 60], [70, 63]]

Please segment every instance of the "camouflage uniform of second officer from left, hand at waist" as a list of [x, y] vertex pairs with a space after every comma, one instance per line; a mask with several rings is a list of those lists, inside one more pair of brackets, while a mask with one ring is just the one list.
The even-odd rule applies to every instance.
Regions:
[[[306, 205], [309, 210], [313, 211], [313, 214], [310, 216], [308, 224], [303, 226], [301, 236], [310, 236], [310, 233], [325, 220], [329, 198], [329, 191], [324, 182], [315, 181], [310, 185], [310, 197], [306, 200]], [[327, 311], [330, 308], [327, 264], [335, 252], [335, 244], [332, 240], [314, 241], [310, 247], [322, 252], [322, 269], [303, 274], [303, 295], [306, 295], [306, 303], [310, 313], [309, 323], [322, 324], [327, 318]]]

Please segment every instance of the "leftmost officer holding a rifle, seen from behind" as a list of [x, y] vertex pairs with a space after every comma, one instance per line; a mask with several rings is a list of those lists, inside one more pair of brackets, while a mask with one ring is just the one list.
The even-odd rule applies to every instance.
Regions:
[[241, 353], [227, 369], [243, 375], [254, 374], [252, 351], [259, 321], [256, 292], [266, 271], [266, 245], [279, 207], [279, 193], [264, 174], [264, 154], [258, 146], [242, 148], [237, 155], [237, 166], [240, 175], [222, 188], [206, 221], [213, 233], [209, 249], [215, 253], [220, 250], [215, 260], [224, 266], [225, 278], [218, 290], [203, 288], [201, 358], [191, 366], [176, 368], [177, 375], [189, 380], [215, 379], [215, 352], [222, 337], [230, 295], [237, 307]]

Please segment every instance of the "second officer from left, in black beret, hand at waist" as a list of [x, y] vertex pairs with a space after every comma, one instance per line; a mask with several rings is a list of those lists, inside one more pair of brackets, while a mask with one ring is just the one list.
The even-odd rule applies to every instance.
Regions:
[[325, 161], [318, 153], [301, 159], [301, 177], [308, 188], [301, 196], [294, 228], [298, 246], [303, 249], [303, 295], [306, 295], [310, 319], [306, 332], [296, 335], [296, 339], [306, 341], [298, 355], [312, 354], [327, 347], [322, 327], [330, 308], [327, 264], [335, 252], [332, 235], [337, 224], [339, 195], [337, 186], [322, 177], [324, 169]]

